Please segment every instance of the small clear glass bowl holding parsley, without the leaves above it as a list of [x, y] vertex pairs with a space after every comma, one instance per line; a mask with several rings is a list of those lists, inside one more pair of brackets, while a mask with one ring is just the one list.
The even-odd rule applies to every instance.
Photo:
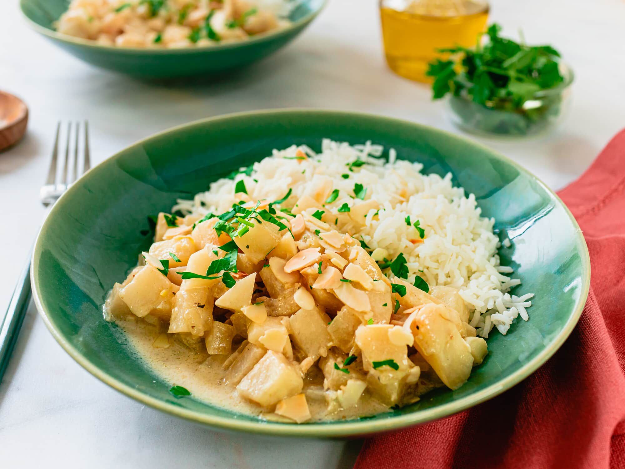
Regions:
[[559, 62], [564, 78], [554, 88], [537, 91], [527, 99], [521, 108], [516, 108], [511, 99], [498, 98], [486, 104], [474, 103], [467, 90], [451, 96], [449, 114], [452, 122], [460, 129], [481, 136], [529, 136], [551, 129], [562, 120], [571, 102], [573, 72], [564, 62]]

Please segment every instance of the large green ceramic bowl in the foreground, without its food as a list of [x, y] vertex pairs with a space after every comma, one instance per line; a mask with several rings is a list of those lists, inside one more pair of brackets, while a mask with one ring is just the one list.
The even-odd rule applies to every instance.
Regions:
[[[321, 138], [371, 139], [427, 173], [453, 174], [497, 219], [502, 264], [534, 292], [530, 320], [492, 333], [490, 353], [459, 390], [437, 390], [401, 410], [371, 418], [289, 425], [176, 400], [171, 383], [153, 375], [103, 320], [102, 305], [137, 253], [151, 244], [147, 214], [169, 211], [211, 181], [271, 154], [273, 148]], [[145, 233], [145, 231], [143, 232]], [[586, 301], [589, 257], [581, 231], [560, 199], [504, 156], [466, 139], [406, 121], [366, 114], [284, 110], [232, 114], [187, 124], [145, 139], [91, 169], [54, 205], [32, 258], [34, 298], [56, 340], [99, 379], [136, 400], [208, 425], [273, 435], [348, 436], [401, 428], [450, 415], [487, 400], [535, 371], [562, 345]]]

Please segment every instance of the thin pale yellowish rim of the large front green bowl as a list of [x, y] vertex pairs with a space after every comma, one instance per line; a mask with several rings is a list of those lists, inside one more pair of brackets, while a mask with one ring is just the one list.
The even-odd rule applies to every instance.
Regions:
[[[406, 428], [413, 425], [419, 425], [421, 423], [426, 423], [428, 421], [436, 420], [437, 418], [442, 418], [445, 416], [452, 415], [459, 411], [465, 410], [469, 407], [477, 405], [481, 402], [489, 400], [502, 392], [512, 388], [512, 386], [521, 382], [527, 376], [531, 375], [534, 371], [537, 370], [541, 365], [543, 365], [551, 356], [556, 353], [556, 351], [560, 348], [562, 343], [568, 338], [571, 334], [573, 328], [577, 324], [579, 317], [581, 316], [582, 310], [584, 309], [584, 305], [586, 305], [586, 299], [588, 296], [589, 288], [590, 288], [590, 256], [588, 253], [588, 249], [586, 246], [586, 241], [584, 240], [584, 236], [582, 235], [582, 231], [579, 228], [579, 224], [577, 224], [576, 219], [573, 217], [571, 211], [567, 208], [567, 206], [561, 201], [561, 199], [554, 193], [551, 189], [549, 189], [541, 179], [537, 178], [529, 172], [527, 169], [523, 168], [520, 164], [512, 161], [512, 159], [507, 158], [502, 154], [497, 153], [496, 151], [488, 148], [481, 143], [474, 142], [467, 138], [457, 136], [455, 134], [449, 133], [447, 131], [443, 131], [441, 129], [436, 129], [431, 126], [426, 126], [423, 124], [417, 124], [411, 121], [406, 121], [404, 119], [396, 119], [390, 118], [387, 116], [379, 116], [377, 114], [370, 113], [354, 113], [348, 111], [334, 111], [334, 110], [319, 110], [319, 109], [306, 109], [306, 108], [287, 108], [287, 109], [267, 109], [262, 111], [246, 111], [242, 113], [231, 113], [231, 114], [223, 114], [221, 116], [216, 116], [212, 118], [199, 119], [197, 121], [192, 121], [186, 124], [182, 124], [173, 128], [166, 129], [159, 133], [153, 134], [147, 138], [141, 139], [138, 142], [134, 143], [131, 146], [124, 148], [118, 153], [110, 156], [109, 158], [104, 159], [101, 163], [91, 168], [88, 173], [84, 174], [83, 178], [93, 178], [95, 176], [96, 168], [101, 166], [102, 164], [106, 164], [112, 159], [120, 158], [121, 155], [126, 153], [126, 151], [137, 148], [143, 145], [144, 142], [149, 141], [153, 138], [166, 136], [167, 134], [176, 133], [179, 129], [187, 128], [191, 126], [197, 126], [205, 123], [209, 123], [212, 121], [226, 121], [229, 119], [237, 119], [242, 116], [250, 116], [253, 114], [256, 115], [267, 115], [267, 114], [326, 114], [327, 116], [333, 117], [342, 117], [342, 118], [374, 118], [387, 121], [389, 123], [401, 123], [401, 124], [410, 124], [412, 126], [425, 128], [432, 133], [439, 134], [446, 138], [462, 142], [463, 144], [469, 144], [472, 146], [479, 147], [484, 151], [490, 153], [494, 158], [500, 159], [507, 164], [511, 164], [514, 168], [518, 169], [521, 173], [526, 174], [528, 177], [534, 179], [539, 183], [539, 185], [547, 191], [547, 193], [551, 194], [551, 196], [558, 201], [562, 207], [565, 209], [567, 216], [571, 219], [573, 226], [576, 227], [576, 235], [577, 235], [577, 247], [580, 251], [581, 261], [582, 261], [582, 295], [579, 296], [577, 303], [575, 305], [574, 310], [572, 311], [571, 316], [566, 321], [564, 328], [553, 338], [551, 343], [547, 345], [540, 353], [538, 353], [532, 360], [523, 365], [519, 370], [511, 373], [511, 375], [506, 376], [502, 380], [497, 383], [488, 386], [486, 389], [476, 392], [472, 395], [466, 396], [464, 398], [460, 398], [458, 400], [451, 401], [446, 404], [442, 404], [436, 406], [434, 408], [419, 410], [414, 413], [408, 413], [406, 415], [397, 415], [392, 416], [390, 418], [385, 418], [383, 420], [352, 420], [352, 421], [327, 421], [327, 422], [318, 422], [318, 423], [306, 423], [301, 425], [296, 425], [292, 423], [279, 423], [279, 422], [271, 422], [271, 421], [241, 421], [237, 420], [234, 416], [232, 417], [221, 417], [214, 415], [207, 415], [198, 411], [187, 410], [181, 408], [179, 406], [170, 404], [166, 401], [161, 401], [159, 399], [153, 398], [152, 396], [146, 395], [131, 386], [127, 386], [121, 381], [116, 380], [113, 376], [105, 373], [103, 370], [99, 369], [98, 366], [93, 365], [87, 358], [83, 356], [83, 354], [76, 350], [63, 336], [63, 334], [58, 330], [58, 328], [54, 325], [53, 321], [49, 317], [49, 313], [43, 307], [41, 303], [41, 298], [39, 298], [39, 282], [38, 282], [38, 263], [39, 255], [41, 251], [42, 239], [41, 233], [46, 228], [49, 223], [49, 219], [53, 218], [54, 214], [62, 209], [64, 202], [68, 199], [69, 194], [72, 194], [73, 191], [78, 190], [76, 186], [70, 187], [59, 200], [54, 204], [51, 209], [49, 215], [44, 221], [41, 229], [39, 230], [39, 234], [37, 235], [37, 240], [35, 242], [34, 250], [32, 253], [32, 268], [31, 268], [31, 283], [32, 283], [32, 296], [34, 298], [35, 305], [37, 306], [37, 310], [39, 314], [42, 316], [44, 323], [47, 328], [50, 330], [56, 341], [69, 353], [69, 355], [76, 360], [79, 365], [83, 366], [89, 373], [96, 376], [104, 383], [108, 384], [112, 388], [124, 393], [125, 395], [143, 402], [146, 405], [149, 405], [158, 410], [162, 410], [164, 412], [185, 418], [187, 420], [195, 421], [197, 423], [204, 423], [206, 425], [214, 426], [217, 428], [224, 428], [227, 430], [234, 431], [247, 431], [249, 433], [259, 433], [263, 435], [273, 435], [273, 436], [308, 436], [308, 437], [317, 437], [317, 438], [334, 438], [334, 437], [347, 437], [347, 436], [358, 436], [358, 435], [370, 435], [372, 433], [379, 433], [383, 431], [389, 430], [397, 430], [400, 428]], [[81, 178], [81, 179], [83, 179]], [[210, 403], [209, 403], [210, 405]]]

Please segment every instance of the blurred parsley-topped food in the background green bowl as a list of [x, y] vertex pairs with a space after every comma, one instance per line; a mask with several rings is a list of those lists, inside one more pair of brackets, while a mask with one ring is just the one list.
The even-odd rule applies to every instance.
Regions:
[[289, 0], [72, 0], [59, 33], [106, 46], [187, 48], [284, 28]]

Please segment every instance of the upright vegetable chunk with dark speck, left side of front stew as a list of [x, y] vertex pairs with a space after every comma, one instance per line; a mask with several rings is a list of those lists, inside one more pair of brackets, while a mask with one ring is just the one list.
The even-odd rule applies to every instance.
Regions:
[[211, 330], [212, 303], [208, 287], [189, 286], [189, 280], [183, 280], [183, 285], [176, 293], [168, 332], [203, 336], [204, 332]]

